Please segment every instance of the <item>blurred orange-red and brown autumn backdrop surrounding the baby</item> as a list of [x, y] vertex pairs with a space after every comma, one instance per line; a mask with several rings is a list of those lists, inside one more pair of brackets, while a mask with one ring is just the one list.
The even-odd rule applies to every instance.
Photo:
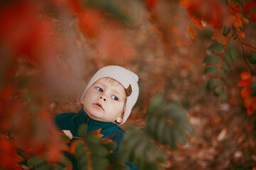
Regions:
[[[254, 18], [245, 17], [250, 22], [240, 26], [242, 40], [252, 46], [245, 55], [238, 39], [226, 38], [224, 45], [233, 45], [240, 57], [225, 79], [228, 100], [220, 103], [206, 89], [203, 60], [208, 47], [219, 42], [212, 37], [222, 33], [222, 25], [201, 20], [203, 28], [196, 28], [188, 17], [189, 2], [224, 22], [218, 18], [223, 13], [218, 3], [227, 5], [222, 1], [1, 1], [1, 137], [14, 139], [14, 148], [36, 147], [38, 153], [39, 141], [55, 135], [53, 125], [38, 120], [77, 112], [90, 77], [115, 64], [139, 75], [139, 99], [127, 123], [143, 127], [149, 101], [164, 94], [166, 102], [186, 110], [193, 125], [185, 145], [162, 148], [169, 155], [164, 169], [256, 169], [256, 118], [247, 115], [238, 86], [240, 74], [250, 71], [245, 57], [255, 51]], [[248, 1], [228, 3], [242, 8]], [[10, 158], [0, 158], [6, 167]]]

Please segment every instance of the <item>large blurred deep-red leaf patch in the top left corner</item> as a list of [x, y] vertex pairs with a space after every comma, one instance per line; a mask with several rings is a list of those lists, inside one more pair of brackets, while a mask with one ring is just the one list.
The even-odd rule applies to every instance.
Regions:
[[[6, 3], [7, 4], [7, 3]], [[52, 23], [36, 11], [36, 1], [15, 1], [0, 12], [0, 40], [16, 57], [37, 60], [36, 54], [51, 35]]]

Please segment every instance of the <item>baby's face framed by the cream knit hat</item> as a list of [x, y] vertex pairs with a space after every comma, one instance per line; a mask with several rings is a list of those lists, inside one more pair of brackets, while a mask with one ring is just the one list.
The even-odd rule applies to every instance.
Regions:
[[102, 78], [93, 84], [82, 101], [87, 115], [102, 122], [122, 122], [126, 100], [124, 86], [110, 78]]

